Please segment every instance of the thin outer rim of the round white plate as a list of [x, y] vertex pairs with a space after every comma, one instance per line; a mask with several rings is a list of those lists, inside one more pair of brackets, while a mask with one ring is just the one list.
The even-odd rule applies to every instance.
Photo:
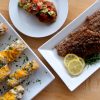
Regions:
[[67, 15], [66, 15], [66, 18], [64, 19], [64, 21], [63, 21], [63, 23], [62, 23], [62, 25], [60, 25], [58, 28], [57, 28], [57, 30], [56, 31], [54, 31], [54, 32], [52, 32], [52, 33], [50, 33], [50, 34], [48, 34], [48, 35], [45, 35], [45, 36], [31, 36], [31, 35], [28, 35], [28, 34], [26, 34], [25, 32], [23, 32], [20, 28], [18, 28], [17, 26], [16, 26], [16, 24], [14, 23], [14, 21], [13, 21], [13, 19], [12, 19], [12, 17], [11, 17], [11, 13], [10, 13], [10, 2], [11, 2], [12, 0], [9, 0], [9, 5], [8, 5], [8, 9], [9, 9], [9, 17], [10, 17], [10, 19], [11, 19], [11, 22], [12, 22], [12, 24], [15, 26], [15, 28], [19, 31], [19, 32], [21, 32], [23, 35], [25, 35], [25, 36], [28, 36], [28, 37], [33, 37], [33, 38], [44, 38], [44, 37], [48, 37], [48, 36], [51, 36], [51, 35], [53, 35], [53, 34], [56, 34], [56, 32], [57, 31], [59, 31], [59, 30], [61, 30], [61, 27], [64, 25], [64, 23], [65, 23], [65, 21], [67, 20], [67, 17], [68, 17], [68, 11], [69, 11], [69, 4], [68, 4], [68, 0], [66, 0], [66, 4], [67, 4]]

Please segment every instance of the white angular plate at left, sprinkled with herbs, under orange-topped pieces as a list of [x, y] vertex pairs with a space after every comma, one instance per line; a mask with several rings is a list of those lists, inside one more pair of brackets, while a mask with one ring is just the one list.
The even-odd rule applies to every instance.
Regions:
[[[0, 14], [0, 21], [7, 24], [8, 32], [0, 36], [0, 50], [3, 50], [7, 45], [11, 44], [13, 40], [16, 38], [22, 38], [18, 35], [18, 33], [11, 27], [11, 25], [7, 22], [7, 20]], [[23, 40], [22, 40], [23, 41]], [[23, 41], [24, 42], [24, 41]], [[2, 45], [3, 44], [3, 45]], [[26, 44], [26, 43], [25, 43]], [[27, 45], [27, 44], [26, 44]], [[12, 71], [16, 70], [18, 66], [23, 65], [23, 60], [25, 56], [28, 57], [29, 61], [35, 59], [40, 68], [30, 75], [28, 79], [22, 84], [25, 88], [25, 94], [22, 100], [31, 100], [35, 97], [40, 91], [42, 91], [48, 84], [50, 84], [54, 80], [54, 76], [52, 73], [46, 68], [46, 66], [40, 61], [40, 59], [36, 56], [36, 54], [32, 51], [32, 49], [27, 45], [27, 49], [24, 51], [25, 55], [21, 55], [21, 58], [17, 60], [17, 62], [12, 63], [10, 66]], [[27, 61], [25, 61], [26, 63]], [[30, 81], [29, 85], [26, 85]], [[0, 89], [3, 90], [3, 86], [0, 84]]]

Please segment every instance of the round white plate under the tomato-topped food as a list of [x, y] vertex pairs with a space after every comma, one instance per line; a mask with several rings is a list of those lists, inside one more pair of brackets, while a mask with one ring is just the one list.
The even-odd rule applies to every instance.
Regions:
[[14, 26], [23, 34], [30, 37], [45, 37], [56, 32], [65, 22], [68, 14], [68, 0], [52, 0], [57, 8], [56, 22], [47, 25], [41, 23], [35, 16], [18, 7], [18, 0], [10, 0], [9, 15]]

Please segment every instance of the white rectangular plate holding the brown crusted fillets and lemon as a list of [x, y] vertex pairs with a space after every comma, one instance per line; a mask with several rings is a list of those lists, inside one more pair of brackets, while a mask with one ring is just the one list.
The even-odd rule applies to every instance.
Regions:
[[47, 62], [52, 66], [55, 72], [60, 76], [65, 85], [73, 91], [76, 89], [83, 81], [85, 81], [89, 76], [91, 76], [96, 70], [100, 68], [100, 62], [86, 67], [84, 72], [78, 77], [71, 77], [63, 64], [63, 59], [58, 56], [55, 46], [63, 40], [70, 32], [80, 26], [86, 19], [87, 16], [93, 14], [96, 10], [100, 9], [100, 2], [94, 3], [85, 12], [83, 12], [79, 17], [72, 21], [68, 26], [66, 26], [62, 31], [60, 31], [56, 36], [51, 38], [48, 42], [42, 45], [38, 50], [47, 60]]

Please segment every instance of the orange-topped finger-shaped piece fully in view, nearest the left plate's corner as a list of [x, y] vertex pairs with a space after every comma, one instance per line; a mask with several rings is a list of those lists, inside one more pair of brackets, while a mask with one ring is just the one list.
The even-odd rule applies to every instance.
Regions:
[[28, 77], [32, 72], [39, 68], [39, 64], [32, 60], [27, 64], [23, 65], [21, 69], [17, 69], [14, 73], [9, 75], [7, 80], [8, 86], [14, 87], [18, 85], [22, 79]]

